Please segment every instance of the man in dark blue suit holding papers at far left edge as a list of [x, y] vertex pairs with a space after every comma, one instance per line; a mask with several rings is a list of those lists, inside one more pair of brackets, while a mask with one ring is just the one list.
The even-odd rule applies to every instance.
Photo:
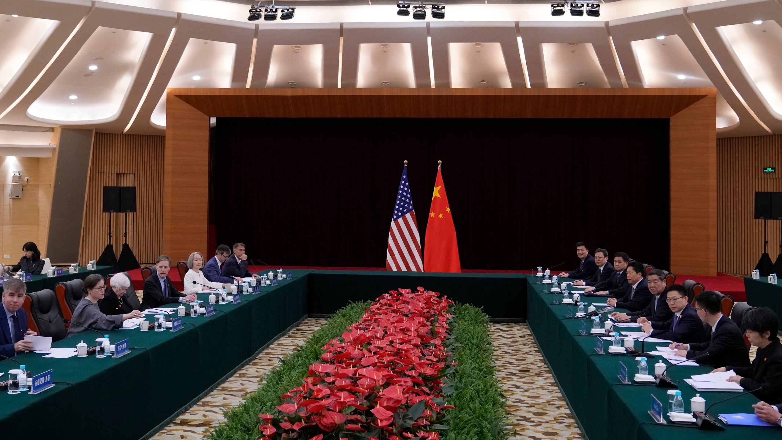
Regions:
[[0, 355], [13, 358], [18, 352], [33, 349], [32, 341], [25, 341], [25, 334], [37, 335], [27, 330], [27, 312], [22, 308], [27, 286], [22, 280], [8, 280], [3, 285], [2, 303], [0, 303]]

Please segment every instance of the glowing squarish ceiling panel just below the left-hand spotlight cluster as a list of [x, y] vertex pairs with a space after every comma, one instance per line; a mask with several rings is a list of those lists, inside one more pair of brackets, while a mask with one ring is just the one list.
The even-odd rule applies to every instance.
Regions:
[[266, 87], [323, 87], [323, 45], [275, 45]]

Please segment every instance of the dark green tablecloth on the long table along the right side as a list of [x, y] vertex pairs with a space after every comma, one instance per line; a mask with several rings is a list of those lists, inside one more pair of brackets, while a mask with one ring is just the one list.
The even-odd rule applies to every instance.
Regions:
[[[566, 319], [567, 312], [576, 312], [575, 306], [552, 304], [554, 294], [543, 293], [548, 286], [537, 284], [535, 277], [529, 277], [527, 289], [529, 328], [540, 347], [548, 365], [556, 377], [559, 387], [569, 402], [583, 432], [590, 440], [608, 438], [655, 439], [663, 440], [669, 436], [698, 439], [736, 439], [751, 438], [753, 435], [778, 436], [782, 433], [773, 427], [727, 427], [726, 431], [699, 431], [693, 427], [671, 424], [656, 424], [647, 413], [651, 409], [651, 395], [667, 408], [665, 388], [649, 385], [626, 385], [619, 380], [619, 362], [629, 370], [631, 382], [636, 373], [637, 362], [631, 355], [598, 355], [596, 336], [581, 336], [583, 319]], [[559, 295], [561, 298], [561, 295]], [[583, 298], [587, 304], [604, 303], [603, 298]], [[598, 307], [599, 308], [599, 307]], [[619, 309], [618, 311], [624, 312]], [[591, 328], [587, 323], [587, 332]], [[632, 331], [632, 329], [631, 329]], [[640, 331], [640, 330], [635, 330]], [[608, 352], [610, 341], [602, 341]], [[637, 348], [640, 344], [636, 342]], [[646, 344], [647, 351], [654, 350], [658, 344]], [[664, 344], [659, 344], [664, 345]], [[649, 370], [654, 372], [653, 364], [662, 359], [657, 357], [649, 362]], [[666, 362], [669, 364], [670, 362]], [[683, 380], [693, 374], [708, 373], [708, 366], [677, 366], [669, 370], [668, 375], [680, 380], [680, 391], [684, 399], [685, 411], [690, 410], [690, 399], [696, 391]], [[633, 382], [634, 383], [634, 382]], [[706, 405], [721, 399], [733, 397], [732, 392], [701, 392]], [[752, 404], [758, 399], [752, 395], [742, 395], [716, 406], [709, 413], [752, 413]], [[666, 417], [667, 419], [667, 417]], [[692, 426], [692, 425], [690, 425]]]

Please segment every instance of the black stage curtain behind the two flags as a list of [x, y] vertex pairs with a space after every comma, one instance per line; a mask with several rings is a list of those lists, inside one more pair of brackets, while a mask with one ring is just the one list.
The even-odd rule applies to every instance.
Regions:
[[[385, 267], [403, 161], [421, 249], [437, 160], [463, 269], [669, 268], [668, 119], [217, 118], [217, 243], [274, 265]], [[211, 250], [210, 250], [211, 251]]]

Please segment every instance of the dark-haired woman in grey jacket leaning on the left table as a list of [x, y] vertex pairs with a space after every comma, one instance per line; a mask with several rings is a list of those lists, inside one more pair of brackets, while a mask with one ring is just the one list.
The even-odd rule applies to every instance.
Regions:
[[131, 310], [131, 312], [122, 315], [106, 315], [102, 313], [98, 306], [98, 301], [102, 300], [105, 294], [106, 282], [101, 275], [92, 273], [87, 278], [84, 278], [84, 298], [81, 298], [81, 301], [74, 309], [74, 316], [70, 319], [70, 326], [66, 336], [80, 334], [87, 331], [87, 328], [94, 330], [117, 329], [122, 326], [122, 322], [125, 319], [144, 316], [138, 310]]

